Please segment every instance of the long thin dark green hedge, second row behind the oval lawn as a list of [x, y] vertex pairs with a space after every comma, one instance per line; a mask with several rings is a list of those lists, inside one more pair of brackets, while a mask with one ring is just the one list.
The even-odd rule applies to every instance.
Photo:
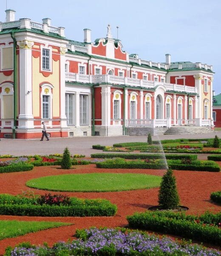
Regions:
[[[120, 157], [124, 159], [164, 159], [162, 154], [105, 154], [97, 153], [91, 154], [91, 158], [113, 158]], [[165, 155], [166, 159], [190, 159], [197, 160], [197, 155], [180, 155], [180, 154], [167, 154]]]

